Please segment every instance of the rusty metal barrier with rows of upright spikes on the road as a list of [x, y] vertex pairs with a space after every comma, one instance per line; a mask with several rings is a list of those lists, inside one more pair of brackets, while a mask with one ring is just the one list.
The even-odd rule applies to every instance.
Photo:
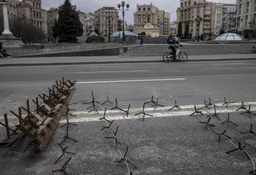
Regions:
[[[25, 136], [31, 139], [36, 148], [44, 151], [63, 114], [68, 110], [66, 104], [71, 101], [76, 91], [76, 81], [72, 82], [62, 78], [54, 83], [52, 89], [49, 88], [48, 95], [42, 93], [38, 95], [39, 98], [31, 100], [36, 105], [35, 110], [31, 110], [29, 100], [27, 100], [26, 107], [19, 107], [18, 114], [10, 111], [19, 119], [15, 129], [10, 128], [7, 114], [4, 114], [5, 123], [0, 123], [0, 125], [6, 128], [7, 139], [0, 141], [0, 148], [10, 146]], [[26, 115], [22, 116], [22, 112]]]

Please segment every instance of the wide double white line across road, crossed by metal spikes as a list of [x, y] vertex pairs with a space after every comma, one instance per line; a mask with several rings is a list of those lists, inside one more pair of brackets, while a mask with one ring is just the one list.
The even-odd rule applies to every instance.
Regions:
[[[232, 103], [232, 105], [229, 105], [228, 108], [225, 107], [225, 105], [222, 105], [223, 103], [216, 103], [215, 105], [219, 106], [216, 108], [216, 112], [218, 114], [223, 114], [227, 116], [227, 112], [236, 112], [236, 109], [238, 109], [239, 106], [241, 106], [241, 103]], [[256, 102], [245, 102], [246, 107], [251, 106], [252, 112], [256, 110]], [[199, 109], [200, 107], [204, 107], [204, 105], [196, 105], [196, 108]], [[168, 112], [168, 109], [172, 108], [172, 106], [169, 107], [159, 107], [157, 109], [154, 109], [152, 107], [147, 107], [145, 108], [145, 112], [147, 114], [152, 114], [153, 117], [151, 116], [145, 116], [145, 118], [161, 118], [161, 117], [175, 117], [175, 116], [189, 116], [193, 112], [195, 112], [194, 105], [180, 105], [180, 108], [182, 110], [174, 109], [170, 112]], [[127, 109], [124, 109], [127, 110]], [[106, 111], [106, 118], [109, 120], [118, 120], [118, 119], [138, 119], [141, 118], [140, 115], [135, 116], [136, 113], [141, 112], [141, 108], [136, 108], [136, 109], [130, 109], [129, 110], [129, 117], [125, 115], [124, 112], [120, 110], [107, 110]], [[205, 116], [209, 115], [209, 113], [214, 113], [213, 107], [211, 109], [207, 109], [207, 112], [204, 109], [201, 109], [202, 112], [205, 114]], [[239, 110], [239, 112], [243, 112], [244, 110]], [[86, 112], [86, 111], [81, 111], [81, 112], [72, 112], [72, 114], [76, 115], [76, 118], [70, 118], [70, 122], [86, 122], [86, 121], [99, 121], [99, 118], [102, 118], [104, 111], [100, 110], [99, 114], [95, 114], [93, 112]], [[26, 115], [25, 115], [26, 116]], [[221, 118], [225, 118], [225, 116], [221, 116]], [[15, 116], [8, 116], [9, 119], [16, 119]], [[3, 120], [3, 117], [0, 116], [0, 119]], [[63, 118], [60, 123], [65, 123], [66, 120]], [[17, 121], [12, 121], [10, 122], [10, 126], [16, 125]], [[0, 125], [1, 127], [1, 125]]]

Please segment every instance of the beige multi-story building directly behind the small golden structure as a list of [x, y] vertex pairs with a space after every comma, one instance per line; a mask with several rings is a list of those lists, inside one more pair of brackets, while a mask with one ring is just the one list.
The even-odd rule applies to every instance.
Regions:
[[170, 13], [159, 10], [151, 4], [137, 4], [137, 10], [134, 13], [134, 33], [138, 34], [147, 23], [150, 23], [154, 29], [159, 29], [158, 35], [170, 34]]

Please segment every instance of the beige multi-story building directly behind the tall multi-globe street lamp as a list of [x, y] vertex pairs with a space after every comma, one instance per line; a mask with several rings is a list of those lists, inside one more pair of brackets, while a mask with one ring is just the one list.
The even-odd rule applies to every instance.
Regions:
[[[117, 31], [118, 27], [118, 10], [114, 7], [100, 8], [94, 12], [95, 14], [95, 29], [99, 31], [100, 36], [108, 36], [110, 33]], [[111, 18], [111, 26], [109, 27], [108, 18]]]

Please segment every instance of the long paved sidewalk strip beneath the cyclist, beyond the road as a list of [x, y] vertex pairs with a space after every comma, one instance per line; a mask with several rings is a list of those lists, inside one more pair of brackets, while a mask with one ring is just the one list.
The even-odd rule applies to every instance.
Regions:
[[[225, 54], [188, 56], [189, 61], [236, 61], [256, 60], [256, 54]], [[162, 56], [120, 57], [120, 56], [95, 56], [95, 57], [35, 57], [35, 58], [6, 58], [0, 59], [2, 66], [47, 66], [47, 65], [93, 65], [111, 63], [161, 63]]]

